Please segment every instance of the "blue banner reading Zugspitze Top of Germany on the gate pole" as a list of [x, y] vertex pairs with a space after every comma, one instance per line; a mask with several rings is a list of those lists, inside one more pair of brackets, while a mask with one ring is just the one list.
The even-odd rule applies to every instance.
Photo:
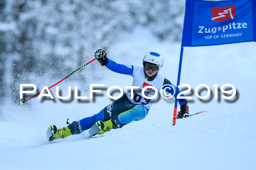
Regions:
[[256, 41], [256, 0], [187, 0], [182, 47]]

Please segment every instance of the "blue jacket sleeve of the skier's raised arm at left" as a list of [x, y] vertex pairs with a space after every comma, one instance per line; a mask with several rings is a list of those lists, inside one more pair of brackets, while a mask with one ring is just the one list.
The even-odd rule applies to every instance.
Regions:
[[108, 64], [105, 65], [109, 70], [126, 75], [132, 75], [133, 73], [133, 66], [118, 64], [113, 60], [109, 59]]

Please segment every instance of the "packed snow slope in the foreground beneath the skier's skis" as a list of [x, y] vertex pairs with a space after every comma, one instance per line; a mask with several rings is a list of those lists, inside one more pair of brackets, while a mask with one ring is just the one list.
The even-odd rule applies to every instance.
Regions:
[[1, 169], [253, 170], [255, 116], [255, 111], [202, 114], [177, 120], [176, 126], [169, 119], [132, 122], [102, 136], [89, 138], [84, 131], [52, 144], [45, 126], [53, 120], [20, 117], [1, 122], [6, 130], [0, 138]]

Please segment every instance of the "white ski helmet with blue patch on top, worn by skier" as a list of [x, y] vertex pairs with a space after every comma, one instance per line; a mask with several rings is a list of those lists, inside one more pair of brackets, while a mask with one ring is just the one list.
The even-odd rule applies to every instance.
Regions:
[[157, 66], [159, 66], [159, 69], [157, 71], [153, 70], [154, 72], [158, 72], [163, 67], [163, 57], [161, 54], [157, 52], [147, 53], [143, 58], [143, 66], [145, 66], [146, 62], [156, 64]]

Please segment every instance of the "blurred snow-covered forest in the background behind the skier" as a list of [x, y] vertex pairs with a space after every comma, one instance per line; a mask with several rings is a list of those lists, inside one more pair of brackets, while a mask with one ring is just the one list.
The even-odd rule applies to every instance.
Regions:
[[20, 84], [57, 83], [136, 27], [181, 41], [184, 11], [185, 0], [0, 0], [0, 104], [19, 103]]

